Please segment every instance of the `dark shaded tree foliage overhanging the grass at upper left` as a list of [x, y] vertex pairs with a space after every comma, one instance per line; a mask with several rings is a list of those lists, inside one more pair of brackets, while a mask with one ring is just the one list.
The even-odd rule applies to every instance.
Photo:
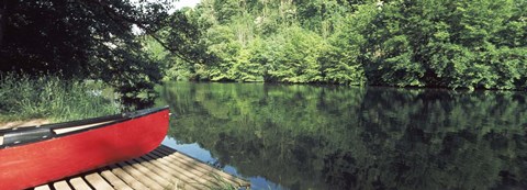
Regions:
[[101, 79], [122, 92], [149, 88], [161, 71], [132, 27], [154, 33], [167, 15], [160, 2], [0, 1], [0, 72]]

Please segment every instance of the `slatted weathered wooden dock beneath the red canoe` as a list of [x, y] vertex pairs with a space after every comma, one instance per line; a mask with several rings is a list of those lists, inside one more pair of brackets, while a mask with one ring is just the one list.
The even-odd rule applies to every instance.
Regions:
[[161, 145], [139, 158], [49, 182], [34, 189], [198, 190], [249, 188], [250, 183], [245, 180]]

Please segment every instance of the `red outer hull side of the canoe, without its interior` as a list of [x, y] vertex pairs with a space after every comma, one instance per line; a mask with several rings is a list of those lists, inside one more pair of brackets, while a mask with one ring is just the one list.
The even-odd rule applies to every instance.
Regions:
[[1, 149], [0, 189], [35, 187], [147, 154], [165, 138], [168, 112]]

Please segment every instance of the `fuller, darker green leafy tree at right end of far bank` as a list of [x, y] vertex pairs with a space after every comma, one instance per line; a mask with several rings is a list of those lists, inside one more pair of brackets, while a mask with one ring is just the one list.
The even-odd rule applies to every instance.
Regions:
[[[397, 1], [363, 35], [371, 83], [520, 89], [525, 71], [525, 2]], [[507, 32], [505, 32], [507, 31]], [[508, 43], [507, 43], [508, 42]]]

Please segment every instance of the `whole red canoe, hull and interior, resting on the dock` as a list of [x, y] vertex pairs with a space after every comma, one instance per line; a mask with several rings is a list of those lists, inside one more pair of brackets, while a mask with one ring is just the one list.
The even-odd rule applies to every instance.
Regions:
[[42, 126], [0, 130], [0, 189], [25, 189], [154, 150], [168, 108]]

